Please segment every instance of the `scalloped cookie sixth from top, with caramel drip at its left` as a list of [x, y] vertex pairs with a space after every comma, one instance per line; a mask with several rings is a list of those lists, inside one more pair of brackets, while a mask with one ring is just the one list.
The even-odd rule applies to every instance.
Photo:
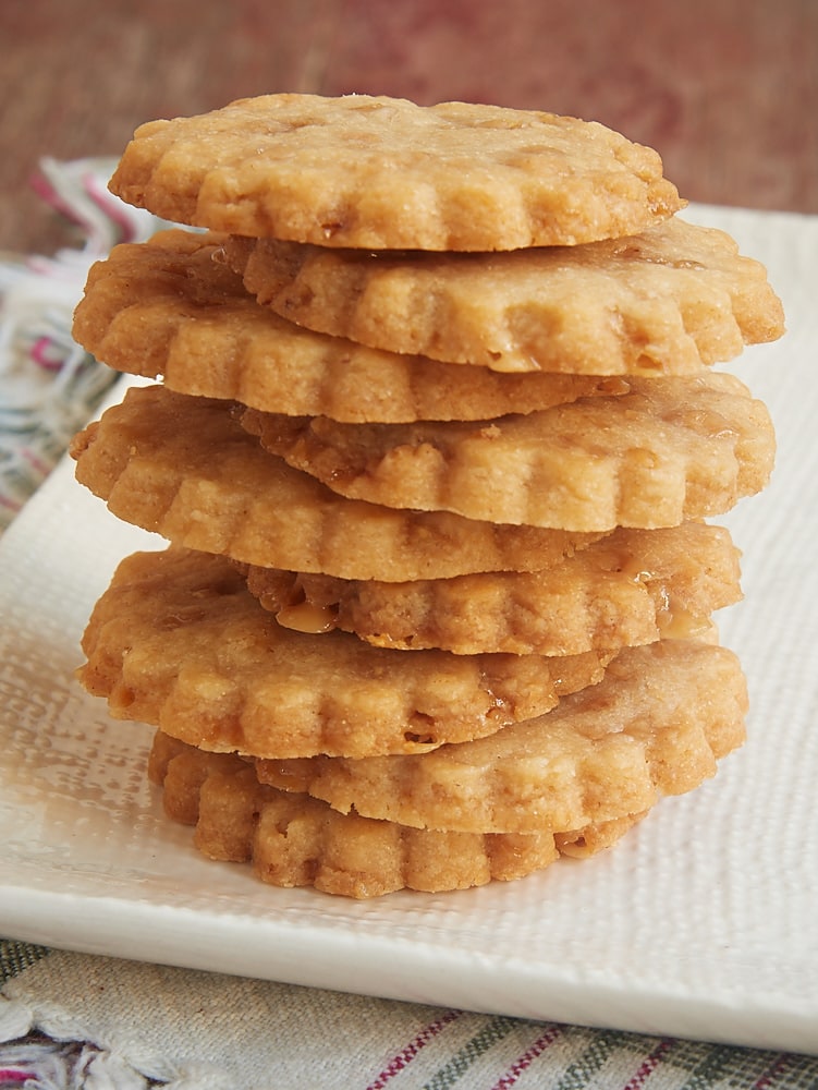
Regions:
[[247, 585], [279, 623], [354, 632], [400, 650], [573, 655], [707, 632], [741, 598], [738, 550], [720, 526], [615, 530], [537, 572], [349, 581], [251, 566]]

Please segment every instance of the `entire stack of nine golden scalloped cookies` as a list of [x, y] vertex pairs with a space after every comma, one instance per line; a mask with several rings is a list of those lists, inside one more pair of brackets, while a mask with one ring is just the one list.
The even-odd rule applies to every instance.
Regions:
[[[75, 336], [151, 379], [78, 480], [125, 559], [80, 670], [156, 730], [207, 856], [374, 897], [613, 844], [744, 739], [708, 520], [782, 332], [658, 155], [552, 114], [274, 95], [142, 126], [111, 187], [185, 228], [91, 270]], [[192, 228], [192, 229], [188, 229]]]

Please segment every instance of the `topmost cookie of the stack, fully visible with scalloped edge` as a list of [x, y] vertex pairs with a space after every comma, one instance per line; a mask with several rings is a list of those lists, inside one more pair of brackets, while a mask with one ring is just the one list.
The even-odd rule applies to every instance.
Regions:
[[683, 206], [655, 150], [598, 122], [366, 95], [148, 122], [110, 187], [175, 222], [376, 250], [574, 245]]

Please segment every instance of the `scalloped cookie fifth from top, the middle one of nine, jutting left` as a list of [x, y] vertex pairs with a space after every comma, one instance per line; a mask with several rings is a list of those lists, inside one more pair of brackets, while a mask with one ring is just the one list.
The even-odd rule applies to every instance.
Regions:
[[263, 567], [389, 582], [536, 570], [597, 536], [344, 499], [264, 451], [229, 402], [162, 386], [129, 390], [71, 453], [125, 522]]

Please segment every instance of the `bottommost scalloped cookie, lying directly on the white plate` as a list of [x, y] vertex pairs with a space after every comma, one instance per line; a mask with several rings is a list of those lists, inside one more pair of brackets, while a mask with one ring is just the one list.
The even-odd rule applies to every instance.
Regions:
[[314, 886], [370, 898], [398, 889], [443, 893], [513, 881], [561, 855], [586, 858], [611, 847], [644, 814], [583, 829], [530, 834], [445, 833], [340, 814], [307, 795], [258, 783], [239, 758], [204, 753], [157, 732], [150, 779], [163, 788], [168, 816], [195, 825], [210, 859], [249, 862], [270, 885]]

